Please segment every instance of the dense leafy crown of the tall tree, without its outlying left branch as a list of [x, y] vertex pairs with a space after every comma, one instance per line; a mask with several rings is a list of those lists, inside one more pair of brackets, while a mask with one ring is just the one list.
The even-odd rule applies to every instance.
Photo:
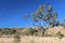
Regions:
[[[47, 12], [47, 13], [44, 13]], [[36, 13], [32, 14], [32, 19], [35, 22], [41, 20], [42, 23], [49, 24], [51, 27], [58, 25], [57, 13], [52, 12], [52, 6], [50, 5], [48, 10], [44, 5], [41, 5]]]

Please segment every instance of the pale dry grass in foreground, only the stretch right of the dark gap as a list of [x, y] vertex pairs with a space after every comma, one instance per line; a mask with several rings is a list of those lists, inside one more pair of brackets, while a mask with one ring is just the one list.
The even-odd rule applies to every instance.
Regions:
[[21, 43], [65, 43], [65, 38], [22, 37]]

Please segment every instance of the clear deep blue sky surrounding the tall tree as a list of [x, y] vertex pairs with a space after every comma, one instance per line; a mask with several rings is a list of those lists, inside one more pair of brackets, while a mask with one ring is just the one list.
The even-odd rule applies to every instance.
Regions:
[[65, 18], [65, 0], [0, 0], [0, 28], [30, 27], [31, 22], [24, 20], [23, 16], [36, 12], [42, 4], [52, 5], [60, 22]]

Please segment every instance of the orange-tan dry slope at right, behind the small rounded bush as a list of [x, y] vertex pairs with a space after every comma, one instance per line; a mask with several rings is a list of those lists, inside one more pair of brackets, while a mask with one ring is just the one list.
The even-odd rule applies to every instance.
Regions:
[[58, 31], [65, 35], [65, 28], [56, 27], [56, 28], [49, 28], [46, 33], [55, 35]]

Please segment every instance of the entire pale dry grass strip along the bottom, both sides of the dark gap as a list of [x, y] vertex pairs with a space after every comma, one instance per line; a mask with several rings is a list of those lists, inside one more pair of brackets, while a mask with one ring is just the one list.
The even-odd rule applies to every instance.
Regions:
[[[0, 43], [13, 43], [13, 38], [0, 38]], [[65, 43], [65, 38], [22, 37], [20, 43]]]

